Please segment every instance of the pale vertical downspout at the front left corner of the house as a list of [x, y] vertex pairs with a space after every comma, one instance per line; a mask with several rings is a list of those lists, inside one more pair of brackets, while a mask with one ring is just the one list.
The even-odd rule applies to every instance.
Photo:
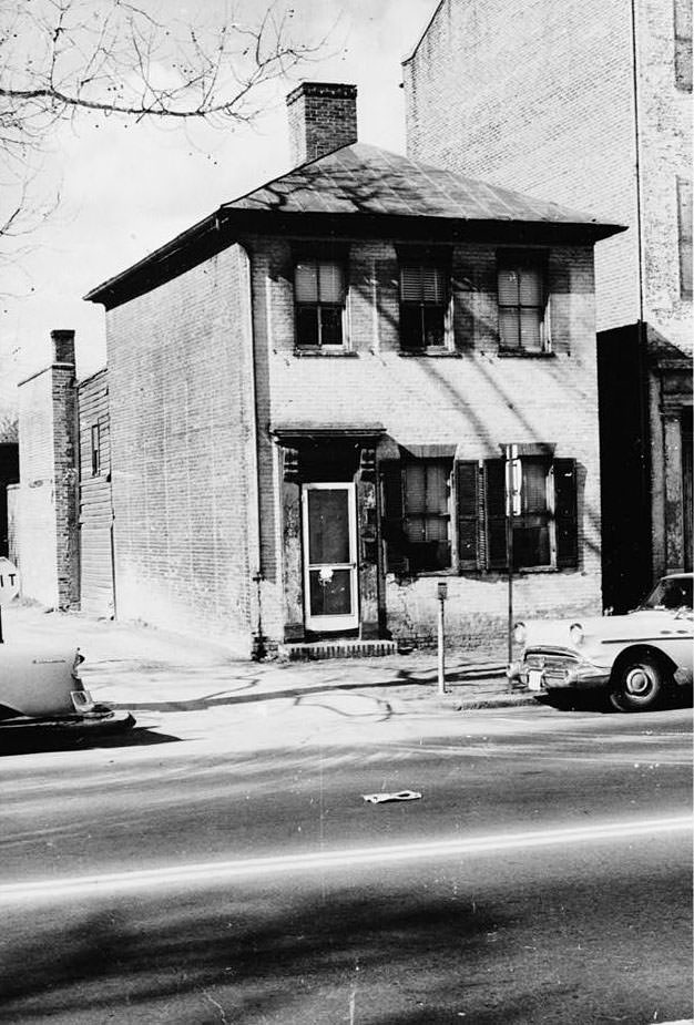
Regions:
[[[261, 542], [261, 479], [259, 479], [259, 458], [258, 458], [258, 401], [257, 401], [257, 372], [256, 372], [256, 349], [255, 336], [253, 330], [253, 280], [251, 275], [251, 255], [245, 246], [237, 243], [242, 256], [244, 287], [243, 295], [246, 298], [246, 314], [244, 316], [243, 330], [251, 346], [249, 378], [251, 378], [251, 407], [253, 410], [249, 423], [251, 438], [248, 442], [248, 505], [249, 505], [249, 581], [255, 584], [255, 602], [253, 591], [251, 592], [251, 619], [255, 623], [253, 633], [253, 644], [251, 657], [259, 662], [266, 655], [265, 633], [263, 631], [263, 553]], [[255, 607], [254, 607], [255, 606]]]

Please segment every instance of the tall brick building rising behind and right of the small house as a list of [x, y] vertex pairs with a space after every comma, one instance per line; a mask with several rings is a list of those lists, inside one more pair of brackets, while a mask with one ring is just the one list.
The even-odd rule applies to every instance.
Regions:
[[692, 567], [688, 0], [441, 0], [408, 152], [630, 230], [595, 250], [604, 594]]

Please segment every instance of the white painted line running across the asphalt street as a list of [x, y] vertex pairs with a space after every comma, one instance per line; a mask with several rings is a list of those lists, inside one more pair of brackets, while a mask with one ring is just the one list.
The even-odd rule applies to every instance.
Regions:
[[358, 867], [380, 867], [392, 862], [431, 858], [474, 857], [503, 851], [543, 848], [559, 844], [586, 843], [601, 840], [629, 840], [632, 837], [656, 837], [692, 829], [690, 816], [643, 819], [621, 824], [604, 823], [569, 829], [552, 829], [509, 833], [472, 839], [432, 840], [423, 843], [389, 847], [284, 854], [275, 858], [249, 858], [238, 861], [201, 862], [102, 875], [75, 875], [62, 879], [16, 882], [0, 885], [0, 904], [17, 904], [35, 900], [68, 900], [75, 896], [103, 896], [152, 890], [155, 886], [182, 886], [200, 883], [232, 882], [303, 872], [330, 871]]

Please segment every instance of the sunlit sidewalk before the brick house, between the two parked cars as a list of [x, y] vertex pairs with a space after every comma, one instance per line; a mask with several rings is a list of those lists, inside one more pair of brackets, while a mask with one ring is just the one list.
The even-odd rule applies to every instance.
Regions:
[[[447, 653], [447, 693], [438, 694], [435, 650], [372, 658], [307, 663], [254, 663], [223, 645], [132, 623], [78, 613], [44, 612], [12, 604], [2, 609], [3, 634], [12, 640], [41, 637], [79, 646], [82, 676], [93, 696], [137, 711], [176, 713], [214, 705], [246, 704], [333, 690], [361, 691], [441, 710], [532, 705], [512, 691], [499, 653]], [[414, 710], [414, 708], [412, 708]]]

